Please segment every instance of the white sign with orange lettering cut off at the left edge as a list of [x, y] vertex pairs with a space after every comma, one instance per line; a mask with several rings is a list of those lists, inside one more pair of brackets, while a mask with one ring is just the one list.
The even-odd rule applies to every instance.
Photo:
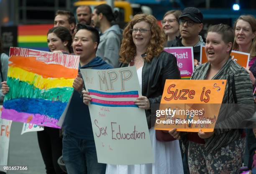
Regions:
[[[0, 117], [3, 106], [0, 106]], [[10, 141], [10, 128], [12, 121], [0, 119], [0, 166], [7, 166], [8, 153], [9, 153], [9, 141]], [[0, 168], [0, 171], [6, 172]]]

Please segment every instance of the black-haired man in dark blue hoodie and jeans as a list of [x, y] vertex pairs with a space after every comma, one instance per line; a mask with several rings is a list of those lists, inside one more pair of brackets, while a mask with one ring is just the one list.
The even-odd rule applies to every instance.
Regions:
[[[78, 24], [72, 44], [75, 55], [80, 55], [79, 68], [112, 68], [100, 57], [96, 57], [100, 43], [98, 31], [89, 25]], [[75, 89], [64, 120], [63, 160], [68, 174], [105, 174], [106, 164], [98, 163], [92, 123], [87, 105], [83, 103], [80, 91], [83, 80], [78, 75]]]

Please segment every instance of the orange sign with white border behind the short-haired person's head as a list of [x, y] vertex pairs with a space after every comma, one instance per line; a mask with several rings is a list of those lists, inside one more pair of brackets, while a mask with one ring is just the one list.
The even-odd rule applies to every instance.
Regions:
[[[201, 52], [200, 53], [200, 62], [206, 63], [208, 60], [207, 60], [207, 57], [205, 54], [205, 45], [201, 45], [200, 52]], [[240, 66], [248, 68], [248, 64], [250, 61], [249, 53], [232, 50], [230, 53], [230, 56], [231, 56], [232, 60], [235, 61], [236, 63], [238, 63]]]

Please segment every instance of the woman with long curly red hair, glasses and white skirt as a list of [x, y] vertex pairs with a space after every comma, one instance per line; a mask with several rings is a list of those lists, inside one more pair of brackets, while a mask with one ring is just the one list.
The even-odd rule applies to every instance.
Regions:
[[139, 14], [123, 31], [120, 48], [120, 67], [135, 66], [142, 96], [135, 104], [146, 112], [154, 153], [153, 164], [110, 165], [106, 174], [183, 174], [179, 141], [156, 140], [151, 106], [160, 103], [166, 79], [180, 79], [176, 58], [163, 48], [164, 33], [153, 15]]

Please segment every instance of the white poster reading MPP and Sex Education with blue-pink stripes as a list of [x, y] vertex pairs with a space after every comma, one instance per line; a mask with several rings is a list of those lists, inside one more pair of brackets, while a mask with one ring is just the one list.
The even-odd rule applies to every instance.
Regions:
[[136, 68], [80, 71], [92, 97], [89, 110], [98, 162], [153, 163], [145, 110], [134, 104], [141, 96]]

